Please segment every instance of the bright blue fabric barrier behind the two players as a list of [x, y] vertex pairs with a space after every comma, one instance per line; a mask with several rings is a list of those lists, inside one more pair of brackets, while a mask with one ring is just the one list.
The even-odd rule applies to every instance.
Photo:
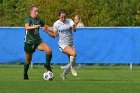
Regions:
[[[140, 63], [140, 28], [78, 28], [73, 33], [77, 63]], [[0, 63], [25, 62], [24, 28], [0, 28]], [[40, 30], [41, 38], [53, 50], [52, 63], [67, 63], [58, 49], [57, 38]], [[34, 63], [45, 63], [45, 53], [36, 50]]]

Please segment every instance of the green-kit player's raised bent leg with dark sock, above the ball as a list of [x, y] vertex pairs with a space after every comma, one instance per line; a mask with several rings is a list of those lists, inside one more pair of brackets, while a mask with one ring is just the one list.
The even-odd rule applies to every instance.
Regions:
[[52, 71], [51, 67], [50, 67], [50, 62], [52, 59], [52, 50], [51, 48], [44, 42], [42, 42], [37, 49], [46, 52], [46, 64], [44, 65], [44, 67], [48, 70], [48, 71]]

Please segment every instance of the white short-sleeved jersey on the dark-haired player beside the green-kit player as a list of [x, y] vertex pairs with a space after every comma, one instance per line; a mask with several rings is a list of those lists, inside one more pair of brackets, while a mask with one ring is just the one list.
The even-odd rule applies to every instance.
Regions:
[[57, 20], [53, 28], [58, 31], [59, 42], [58, 45], [73, 45], [73, 37], [72, 37], [72, 28], [71, 26], [74, 24], [73, 20], [66, 19], [65, 23]]

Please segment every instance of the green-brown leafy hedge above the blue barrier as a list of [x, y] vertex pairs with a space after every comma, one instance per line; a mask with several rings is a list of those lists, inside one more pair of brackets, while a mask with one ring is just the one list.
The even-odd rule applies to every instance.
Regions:
[[140, 25], [140, 0], [0, 0], [0, 26], [24, 26], [31, 4], [39, 7], [39, 17], [50, 26], [61, 8], [69, 18], [79, 14], [86, 27]]

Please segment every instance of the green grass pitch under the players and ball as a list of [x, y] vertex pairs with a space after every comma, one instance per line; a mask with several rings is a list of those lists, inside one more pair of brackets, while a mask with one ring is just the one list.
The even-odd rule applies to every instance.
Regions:
[[53, 67], [54, 80], [44, 81], [43, 66], [29, 69], [29, 80], [23, 80], [23, 65], [0, 66], [0, 93], [140, 93], [140, 69], [77, 69], [62, 81], [58, 66]]

